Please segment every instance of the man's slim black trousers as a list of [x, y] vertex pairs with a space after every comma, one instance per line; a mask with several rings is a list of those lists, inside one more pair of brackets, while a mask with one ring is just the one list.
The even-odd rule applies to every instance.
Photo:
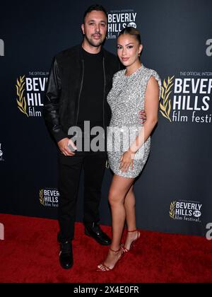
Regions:
[[76, 151], [75, 156], [59, 153], [59, 227], [61, 241], [73, 240], [76, 219], [76, 199], [82, 168], [84, 169], [83, 223], [100, 219], [99, 205], [105, 173], [106, 152]]

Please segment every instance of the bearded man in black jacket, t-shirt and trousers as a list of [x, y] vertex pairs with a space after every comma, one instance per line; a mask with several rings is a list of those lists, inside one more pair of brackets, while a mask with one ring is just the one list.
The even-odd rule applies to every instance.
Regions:
[[[88, 136], [84, 122], [106, 129], [110, 122], [107, 94], [112, 76], [119, 70], [114, 54], [102, 48], [107, 33], [107, 13], [100, 5], [90, 6], [84, 13], [81, 45], [57, 54], [49, 73], [44, 115], [47, 127], [59, 146], [59, 260], [61, 267], [73, 265], [71, 241], [74, 236], [76, 198], [81, 168], [84, 168], [85, 233], [101, 245], [111, 240], [100, 229], [99, 204], [106, 151], [78, 150], [70, 139], [69, 128], [80, 127], [82, 139]], [[73, 135], [71, 135], [73, 136]], [[102, 135], [103, 136], [103, 135]], [[91, 137], [92, 138], [92, 137]]]

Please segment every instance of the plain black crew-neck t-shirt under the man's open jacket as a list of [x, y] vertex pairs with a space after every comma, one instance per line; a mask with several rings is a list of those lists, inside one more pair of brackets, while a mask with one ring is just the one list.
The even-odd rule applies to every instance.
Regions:
[[78, 126], [83, 130], [84, 121], [90, 127], [103, 127], [104, 69], [103, 53], [90, 54], [83, 50], [84, 77], [79, 102]]

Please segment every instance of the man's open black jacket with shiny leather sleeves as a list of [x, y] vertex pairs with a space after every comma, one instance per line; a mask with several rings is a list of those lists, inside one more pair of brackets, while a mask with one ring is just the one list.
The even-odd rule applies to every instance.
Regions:
[[[111, 117], [107, 94], [112, 88], [112, 76], [119, 70], [119, 61], [114, 54], [104, 49], [103, 69], [105, 77], [102, 102], [103, 124], [106, 128]], [[76, 126], [78, 122], [83, 73], [84, 61], [81, 45], [64, 50], [54, 57], [45, 92], [44, 117], [49, 131], [57, 142], [66, 138], [69, 128]]]

